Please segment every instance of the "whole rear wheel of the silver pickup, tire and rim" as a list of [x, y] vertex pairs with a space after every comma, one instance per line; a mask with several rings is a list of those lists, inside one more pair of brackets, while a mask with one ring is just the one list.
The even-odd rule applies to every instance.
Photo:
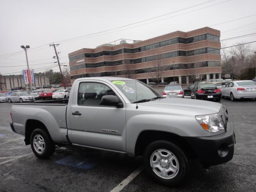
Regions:
[[34, 154], [41, 159], [50, 157], [55, 151], [55, 144], [48, 133], [35, 129], [30, 136], [30, 145]]

